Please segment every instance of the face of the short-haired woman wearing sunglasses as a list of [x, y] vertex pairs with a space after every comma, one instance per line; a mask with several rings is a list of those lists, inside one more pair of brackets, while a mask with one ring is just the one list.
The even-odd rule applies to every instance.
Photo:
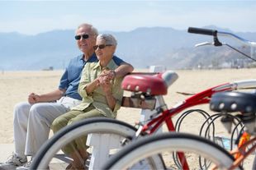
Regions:
[[104, 39], [97, 39], [96, 45], [93, 47], [99, 61], [108, 61], [115, 53], [115, 46], [106, 44]]

